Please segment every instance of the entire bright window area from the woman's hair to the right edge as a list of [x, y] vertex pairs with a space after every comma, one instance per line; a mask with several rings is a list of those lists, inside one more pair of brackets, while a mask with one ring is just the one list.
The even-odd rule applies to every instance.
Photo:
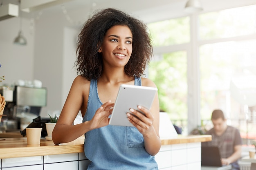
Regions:
[[148, 24], [157, 49], [148, 73], [159, 88], [160, 109], [172, 121], [188, 119], [199, 98], [206, 128], [212, 127], [213, 109], [220, 108], [242, 137], [256, 139], [256, 5], [202, 13], [193, 22], [184, 17]]

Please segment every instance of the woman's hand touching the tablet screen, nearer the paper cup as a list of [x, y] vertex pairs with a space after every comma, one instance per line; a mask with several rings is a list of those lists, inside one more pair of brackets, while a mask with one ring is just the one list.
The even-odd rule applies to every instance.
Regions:
[[101, 105], [98, 110], [96, 110], [95, 115], [90, 120], [90, 130], [101, 128], [103, 126], [107, 126], [109, 122], [109, 116], [112, 113], [113, 106], [115, 103], [108, 101]]

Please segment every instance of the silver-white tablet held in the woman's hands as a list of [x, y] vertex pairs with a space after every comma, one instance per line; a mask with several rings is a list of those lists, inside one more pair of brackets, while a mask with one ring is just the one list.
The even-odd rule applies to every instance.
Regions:
[[133, 126], [127, 119], [129, 109], [137, 106], [151, 108], [157, 88], [121, 84], [109, 124], [117, 126]]

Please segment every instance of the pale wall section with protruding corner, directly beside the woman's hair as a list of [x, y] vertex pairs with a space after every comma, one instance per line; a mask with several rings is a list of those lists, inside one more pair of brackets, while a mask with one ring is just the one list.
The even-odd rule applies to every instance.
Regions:
[[42, 117], [47, 117], [47, 111], [61, 111], [76, 76], [76, 35], [77, 31], [64, 27], [62, 18], [57, 16], [36, 23], [34, 77], [48, 90], [48, 104], [41, 110]]

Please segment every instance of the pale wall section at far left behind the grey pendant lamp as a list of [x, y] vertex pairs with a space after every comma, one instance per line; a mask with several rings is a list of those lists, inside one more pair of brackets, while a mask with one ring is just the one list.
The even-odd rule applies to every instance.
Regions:
[[20, 18], [0, 21], [0, 75], [6, 80], [3, 84], [13, 84], [18, 79], [34, 78], [34, 31], [29, 29], [30, 21], [22, 19], [22, 32], [27, 39], [26, 46], [13, 44], [18, 35]]

